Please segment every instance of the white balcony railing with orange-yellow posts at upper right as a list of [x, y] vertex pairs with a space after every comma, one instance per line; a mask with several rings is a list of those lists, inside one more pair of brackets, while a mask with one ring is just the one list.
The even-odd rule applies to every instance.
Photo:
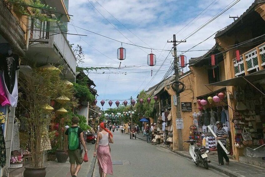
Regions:
[[235, 76], [247, 75], [264, 69], [265, 66], [265, 43], [240, 55], [240, 61], [234, 59]]

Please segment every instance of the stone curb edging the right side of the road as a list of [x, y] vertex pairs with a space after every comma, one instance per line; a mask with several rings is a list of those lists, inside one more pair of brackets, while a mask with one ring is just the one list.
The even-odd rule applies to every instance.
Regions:
[[[138, 138], [138, 137], [136, 137], [136, 138]], [[145, 140], [142, 139], [142, 138], [138, 138], [138, 139], [141, 139], [141, 140], [145, 141]], [[167, 148], [167, 147], [165, 147], [165, 146], [163, 146], [163, 145], [159, 145], [159, 144], [158, 144], [158, 146], [159, 146], [159, 147], [162, 147], [162, 148], [165, 148], [165, 149], [168, 149], [168, 150], [170, 150], [171, 152], [173, 152], [173, 153], [175, 153], [175, 154], [178, 154], [178, 155], [180, 155], [180, 156], [182, 156], [182, 157], [185, 157], [185, 158], [187, 158], [187, 159], [192, 159], [190, 156], [188, 156], [188, 155], [186, 155], [186, 154], [183, 154], [183, 153], [181, 153], [181, 152], [179, 152], [179, 151], [174, 151], [174, 150], [172, 150], [172, 149], [170, 149], [170, 148]], [[218, 168], [217, 166], [212, 165], [212, 164], [209, 164], [209, 168], [214, 169], [214, 170], [216, 170], [216, 171], [219, 171], [219, 172], [221, 172], [221, 173], [223, 173], [223, 174], [225, 174], [225, 175], [227, 175], [227, 176], [230, 176], [230, 177], [239, 177], [239, 176], [242, 176], [242, 175], [238, 175], [238, 174], [233, 173], [233, 172], [228, 172], [227, 169], [221, 169], [221, 168]]]

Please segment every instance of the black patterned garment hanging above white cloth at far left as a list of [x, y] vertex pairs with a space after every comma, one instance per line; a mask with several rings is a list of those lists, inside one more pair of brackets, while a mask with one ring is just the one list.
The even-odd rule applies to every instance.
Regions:
[[15, 54], [1, 56], [1, 65], [4, 68], [4, 81], [11, 94], [15, 86], [16, 71], [19, 70], [18, 60], [19, 56]]

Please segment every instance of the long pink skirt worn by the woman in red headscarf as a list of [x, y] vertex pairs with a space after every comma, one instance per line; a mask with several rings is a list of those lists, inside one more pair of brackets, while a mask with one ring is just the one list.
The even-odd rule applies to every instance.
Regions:
[[98, 146], [99, 173], [113, 174], [109, 146]]

